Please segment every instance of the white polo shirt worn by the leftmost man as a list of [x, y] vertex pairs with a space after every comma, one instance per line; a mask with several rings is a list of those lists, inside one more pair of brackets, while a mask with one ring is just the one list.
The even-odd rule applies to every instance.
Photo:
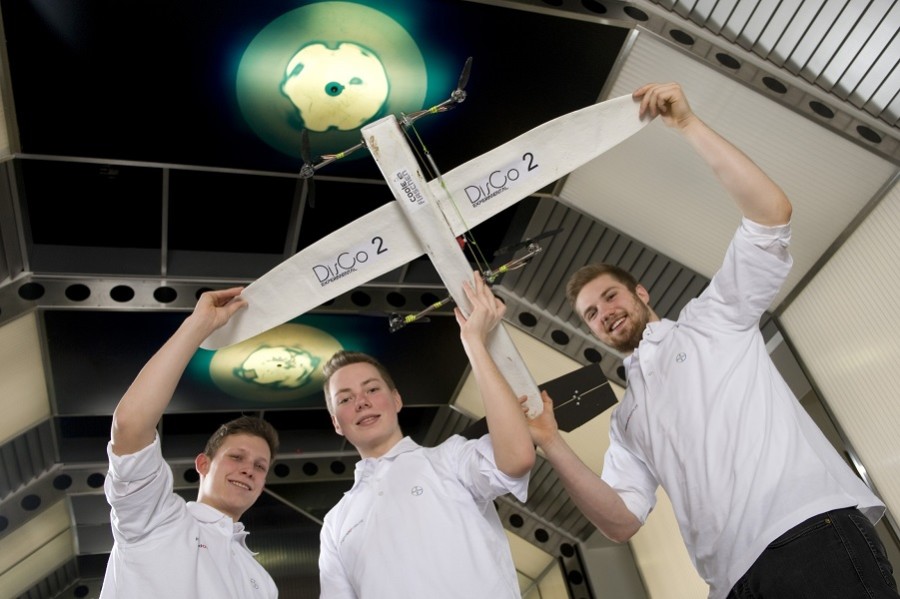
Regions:
[[107, 446], [112, 553], [101, 599], [275, 599], [272, 577], [247, 548], [244, 525], [173, 492], [159, 436], [117, 456]]

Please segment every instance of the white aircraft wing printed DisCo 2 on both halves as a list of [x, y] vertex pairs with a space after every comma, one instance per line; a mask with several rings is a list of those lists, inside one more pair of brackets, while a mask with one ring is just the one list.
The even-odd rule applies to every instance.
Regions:
[[[621, 96], [548, 121], [429, 182], [460, 235], [640, 131], [638, 103]], [[452, 203], [451, 203], [452, 199]], [[203, 343], [249, 339], [418, 258], [425, 249], [390, 202], [304, 248], [251, 283], [249, 306]]]

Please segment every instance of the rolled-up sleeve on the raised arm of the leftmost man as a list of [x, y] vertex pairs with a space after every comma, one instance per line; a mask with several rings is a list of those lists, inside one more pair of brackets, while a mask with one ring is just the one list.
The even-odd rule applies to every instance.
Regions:
[[173, 491], [172, 469], [162, 457], [159, 435], [133, 454], [116, 455], [112, 442], [106, 453], [109, 472], [103, 489], [112, 508], [110, 521], [117, 542], [138, 542], [186, 509]]

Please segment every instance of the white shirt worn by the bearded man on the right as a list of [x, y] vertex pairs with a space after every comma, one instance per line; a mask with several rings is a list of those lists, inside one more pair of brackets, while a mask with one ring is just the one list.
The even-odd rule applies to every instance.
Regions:
[[766, 546], [832, 508], [882, 502], [848, 467], [775, 368], [759, 319], [791, 267], [790, 226], [746, 219], [724, 264], [677, 321], [650, 323], [625, 359], [602, 478], [643, 522], [662, 485], [710, 597]]

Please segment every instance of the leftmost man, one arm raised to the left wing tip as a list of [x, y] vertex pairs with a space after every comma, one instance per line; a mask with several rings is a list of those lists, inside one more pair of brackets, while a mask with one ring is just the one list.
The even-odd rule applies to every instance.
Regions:
[[248, 416], [223, 424], [195, 459], [197, 501], [185, 502], [173, 490], [156, 431], [200, 343], [246, 306], [241, 290], [201, 295], [116, 406], [105, 481], [115, 544], [101, 599], [278, 597], [240, 522], [263, 491], [278, 433]]

